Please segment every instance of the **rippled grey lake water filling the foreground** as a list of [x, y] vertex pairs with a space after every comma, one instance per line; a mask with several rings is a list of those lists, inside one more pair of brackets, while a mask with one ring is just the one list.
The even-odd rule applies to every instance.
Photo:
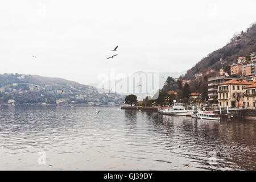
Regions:
[[255, 170], [255, 130], [117, 107], [1, 106], [0, 169]]

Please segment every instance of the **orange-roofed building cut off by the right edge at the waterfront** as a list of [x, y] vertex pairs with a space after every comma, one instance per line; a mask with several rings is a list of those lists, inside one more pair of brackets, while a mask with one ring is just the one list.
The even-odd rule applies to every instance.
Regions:
[[245, 90], [245, 107], [247, 109], [256, 109], [256, 82], [254, 82], [254, 84], [245, 86], [243, 89]]

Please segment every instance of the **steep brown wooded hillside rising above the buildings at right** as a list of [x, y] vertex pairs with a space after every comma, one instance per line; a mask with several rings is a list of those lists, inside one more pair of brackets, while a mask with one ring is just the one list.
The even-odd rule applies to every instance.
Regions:
[[241, 34], [234, 35], [226, 46], [209, 53], [207, 57], [201, 59], [199, 63], [187, 71], [184, 79], [192, 80], [196, 73], [204, 73], [209, 69], [219, 71], [221, 68], [221, 57], [223, 61], [227, 61], [225, 65], [230, 65], [235, 63], [238, 57], [245, 57], [255, 51], [256, 24], [254, 23], [250, 28], [247, 28], [245, 32], [241, 31]]

